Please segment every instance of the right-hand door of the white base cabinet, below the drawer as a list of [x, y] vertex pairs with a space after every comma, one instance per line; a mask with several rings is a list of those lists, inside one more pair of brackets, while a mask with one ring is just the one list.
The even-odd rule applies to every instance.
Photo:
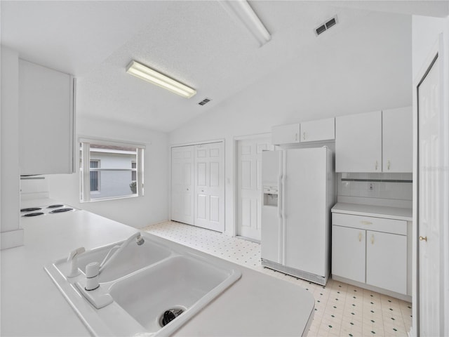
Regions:
[[366, 283], [407, 293], [407, 237], [366, 232]]

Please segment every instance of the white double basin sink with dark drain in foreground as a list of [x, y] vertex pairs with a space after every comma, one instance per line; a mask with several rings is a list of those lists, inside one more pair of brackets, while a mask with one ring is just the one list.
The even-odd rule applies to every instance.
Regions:
[[75, 284], [85, 282], [88, 263], [100, 263], [117, 244], [82, 253], [76, 277], [66, 276], [67, 258], [45, 266], [94, 336], [170, 336], [241, 277], [232, 263], [146, 234], [145, 244], [128, 244], [98, 276], [94, 291], [112, 303], [97, 309]]

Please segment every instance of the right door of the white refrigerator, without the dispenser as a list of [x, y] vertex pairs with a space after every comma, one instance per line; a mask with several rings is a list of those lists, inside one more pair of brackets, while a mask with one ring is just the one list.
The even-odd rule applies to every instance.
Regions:
[[284, 264], [323, 277], [328, 252], [327, 158], [326, 147], [286, 150], [283, 178]]

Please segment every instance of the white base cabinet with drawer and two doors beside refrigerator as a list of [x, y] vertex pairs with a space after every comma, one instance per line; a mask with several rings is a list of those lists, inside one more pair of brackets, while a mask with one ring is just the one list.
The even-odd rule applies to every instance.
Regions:
[[332, 219], [333, 278], [406, 295], [407, 222], [343, 213]]

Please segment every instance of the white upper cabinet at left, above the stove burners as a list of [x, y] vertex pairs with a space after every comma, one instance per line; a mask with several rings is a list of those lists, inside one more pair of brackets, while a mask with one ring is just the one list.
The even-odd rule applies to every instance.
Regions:
[[74, 172], [74, 79], [19, 60], [20, 174]]

